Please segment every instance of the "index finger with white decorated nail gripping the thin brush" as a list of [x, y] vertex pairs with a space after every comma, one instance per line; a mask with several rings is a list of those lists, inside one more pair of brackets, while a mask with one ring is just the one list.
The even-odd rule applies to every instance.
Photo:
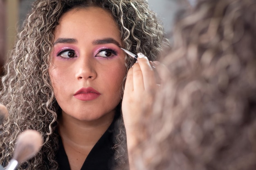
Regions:
[[150, 65], [150, 62], [147, 57], [142, 57], [142, 53], [138, 53], [138, 56], [141, 58], [138, 58], [139, 66], [141, 68], [141, 72], [143, 75], [143, 80], [144, 80], [144, 88], [147, 91], [152, 91], [153, 89], [156, 88], [156, 79], [155, 79], [155, 73]]

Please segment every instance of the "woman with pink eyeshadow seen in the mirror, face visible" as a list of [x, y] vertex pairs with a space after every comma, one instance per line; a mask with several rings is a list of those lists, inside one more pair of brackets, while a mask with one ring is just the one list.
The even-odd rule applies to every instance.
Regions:
[[[146, 0], [34, 2], [2, 77], [0, 102], [9, 117], [0, 126], [0, 163], [7, 166], [20, 132], [34, 129], [43, 146], [18, 169], [124, 169], [134, 122], [126, 116], [124, 124], [121, 116], [126, 73], [144, 80], [138, 88], [147, 86], [124, 97], [122, 111], [129, 115], [139, 105], [129, 104], [130, 95], [139, 99], [156, 87], [154, 76], [145, 77], [154, 74], [149, 60], [162, 40]], [[148, 59], [135, 63], [120, 47]]]

